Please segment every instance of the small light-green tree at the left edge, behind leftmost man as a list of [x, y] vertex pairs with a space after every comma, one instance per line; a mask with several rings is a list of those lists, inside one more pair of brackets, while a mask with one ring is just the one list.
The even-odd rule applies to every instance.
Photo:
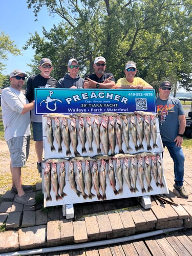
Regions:
[[8, 54], [11, 53], [15, 56], [21, 54], [20, 50], [16, 48], [14, 45], [14, 41], [10, 39], [8, 35], [6, 35], [3, 31], [0, 32], [0, 87], [3, 82], [4, 76], [2, 71], [5, 69], [5, 60], [8, 59]]

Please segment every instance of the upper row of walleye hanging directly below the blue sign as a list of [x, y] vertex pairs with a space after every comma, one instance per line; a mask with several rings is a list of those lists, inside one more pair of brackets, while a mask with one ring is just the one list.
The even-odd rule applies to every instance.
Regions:
[[[101, 115], [81, 113], [72, 116], [48, 114], [46, 117], [45, 130], [51, 152], [55, 151], [54, 138], [58, 144], [58, 153], [62, 153], [63, 141], [67, 156], [80, 156], [88, 152], [105, 155], [111, 153], [113, 156], [115, 153], [144, 150], [144, 139], [147, 144], [146, 150], [153, 151], [150, 145], [151, 138], [153, 148], [158, 147], [156, 115], [152, 113], [103, 113]], [[54, 120], [53, 124], [52, 120]], [[135, 148], [130, 146], [130, 137]], [[77, 151], [79, 142], [80, 153]], [[123, 143], [125, 143], [124, 151], [126, 152], [123, 151]], [[96, 146], [96, 152], [93, 150], [93, 145]], [[117, 152], [115, 152], [116, 145], [118, 145]]]

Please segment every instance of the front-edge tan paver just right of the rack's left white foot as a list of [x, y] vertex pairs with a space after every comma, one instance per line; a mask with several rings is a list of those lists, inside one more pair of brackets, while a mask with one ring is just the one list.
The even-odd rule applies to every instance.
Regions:
[[83, 243], [88, 241], [88, 234], [85, 221], [73, 222], [74, 242]]

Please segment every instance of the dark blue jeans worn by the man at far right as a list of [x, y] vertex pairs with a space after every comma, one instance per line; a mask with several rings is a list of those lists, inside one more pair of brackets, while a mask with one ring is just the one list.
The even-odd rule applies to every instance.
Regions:
[[167, 147], [170, 157], [174, 160], [174, 174], [176, 186], [183, 186], [185, 156], [182, 147], [175, 145], [175, 142], [163, 141], [163, 147]]

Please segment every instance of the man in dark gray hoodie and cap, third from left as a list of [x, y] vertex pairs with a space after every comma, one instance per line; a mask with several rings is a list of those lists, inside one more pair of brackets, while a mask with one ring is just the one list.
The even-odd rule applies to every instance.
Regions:
[[76, 59], [72, 58], [68, 62], [68, 74], [60, 78], [56, 88], [83, 88], [84, 79], [78, 75], [79, 63]]

